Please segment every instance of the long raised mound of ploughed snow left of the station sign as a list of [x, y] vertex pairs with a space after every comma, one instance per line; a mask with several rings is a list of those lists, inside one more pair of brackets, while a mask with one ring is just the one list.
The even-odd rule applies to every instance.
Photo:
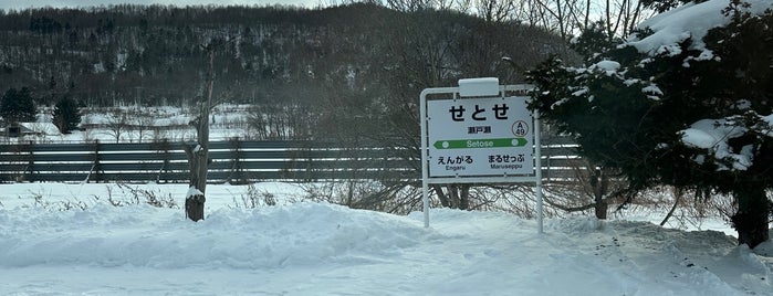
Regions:
[[[200, 223], [180, 210], [100, 204], [85, 211], [0, 210], [0, 266], [86, 264], [182, 268], [276, 268], [389, 255], [426, 231], [393, 215], [296, 203], [221, 209]], [[142, 228], [137, 228], [142, 225]]]

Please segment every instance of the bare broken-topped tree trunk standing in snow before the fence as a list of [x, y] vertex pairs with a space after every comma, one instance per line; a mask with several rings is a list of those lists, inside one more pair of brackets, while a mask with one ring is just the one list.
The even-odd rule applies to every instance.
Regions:
[[194, 221], [203, 220], [203, 203], [207, 201], [207, 170], [209, 167], [209, 110], [212, 107], [212, 86], [215, 85], [215, 49], [213, 45], [205, 47], [207, 51], [208, 67], [203, 97], [197, 102], [199, 108], [196, 121], [196, 146], [186, 146], [188, 165], [190, 166], [190, 188], [185, 200], [186, 216]]

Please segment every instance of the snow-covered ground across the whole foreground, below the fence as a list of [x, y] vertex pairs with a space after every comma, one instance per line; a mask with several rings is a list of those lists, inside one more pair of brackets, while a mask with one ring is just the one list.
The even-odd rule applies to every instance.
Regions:
[[283, 183], [257, 184], [278, 204], [254, 209], [247, 187], [210, 186], [194, 223], [134, 200], [180, 204], [184, 184], [0, 187], [1, 295], [773, 295], [773, 242], [751, 252], [720, 231], [571, 218], [539, 234], [441, 209], [425, 229]]

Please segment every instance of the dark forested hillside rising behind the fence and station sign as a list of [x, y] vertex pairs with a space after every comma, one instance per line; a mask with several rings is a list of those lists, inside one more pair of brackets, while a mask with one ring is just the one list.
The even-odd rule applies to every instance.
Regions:
[[543, 30], [450, 10], [43, 8], [0, 13], [0, 91], [29, 87], [38, 106], [65, 95], [88, 107], [185, 106], [201, 94], [212, 43], [222, 43], [215, 97], [251, 104], [253, 124], [284, 137], [405, 116], [422, 88], [461, 77], [521, 82], [503, 56], [527, 68], [566, 53]]

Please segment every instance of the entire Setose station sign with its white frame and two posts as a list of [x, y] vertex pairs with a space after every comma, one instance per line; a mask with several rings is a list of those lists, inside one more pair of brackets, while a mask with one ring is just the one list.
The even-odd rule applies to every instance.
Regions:
[[[459, 87], [421, 92], [421, 186], [429, 226], [430, 183], [534, 182], [542, 233], [540, 119], [530, 85], [499, 85], [497, 78], [460, 80]], [[441, 96], [442, 98], [428, 98]], [[536, 169], [535, 169], [536, 168]]]

